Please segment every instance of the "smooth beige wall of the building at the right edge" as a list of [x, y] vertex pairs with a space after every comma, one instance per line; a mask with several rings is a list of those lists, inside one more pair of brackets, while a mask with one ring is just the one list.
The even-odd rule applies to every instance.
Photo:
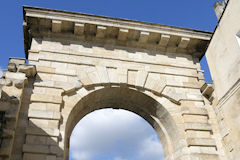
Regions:
[[215, 30], [206, 58], [213, 78], [222, 142], [228, 159], [239, 159], [240, 2], [230, 0]]

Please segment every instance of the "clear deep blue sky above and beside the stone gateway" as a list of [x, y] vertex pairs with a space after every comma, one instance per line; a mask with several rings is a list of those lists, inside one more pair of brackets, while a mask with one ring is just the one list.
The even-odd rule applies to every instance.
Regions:
[[[0, 68], [9, 57], [24, 57], [22, 6], [37, 6], [214, 31], [216, 0], [3, 0], [0, 5]], [[206, 62], [203, 61], [203, 67]], [[207, 71], [206, 71], [207, 72]], [[209, 73], [206, 73], [206, 81]]]

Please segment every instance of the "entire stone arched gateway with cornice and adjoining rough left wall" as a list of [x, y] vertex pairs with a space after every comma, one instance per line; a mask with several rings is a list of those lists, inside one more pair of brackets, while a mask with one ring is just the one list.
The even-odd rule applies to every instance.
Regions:
[[166, 160], [224, 159], [201, 93], [210, 33], [32, 7], [23, 26], [29, 64], [11, 58], [1, 79], [2, 159], [67, 160], [75, 125], [102, 108], [143, 117]]

